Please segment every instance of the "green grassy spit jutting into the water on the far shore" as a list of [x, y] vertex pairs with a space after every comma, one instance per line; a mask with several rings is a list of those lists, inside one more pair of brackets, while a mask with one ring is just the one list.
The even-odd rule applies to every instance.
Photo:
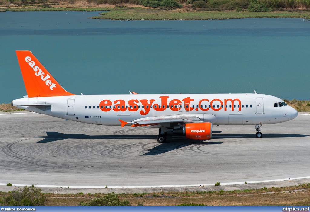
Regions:
[[310, 18], [310, 11], [274, 11], [274, 12], [248, 12], [248, 11], [184, 11], [184, 10], [159, 10], [141, 7], [126, 10], [113, 10], [101, 13], [93, 19], [133, 19], [133, 20], [206, 20], [206, 19], [242, 19], [242, 18]]

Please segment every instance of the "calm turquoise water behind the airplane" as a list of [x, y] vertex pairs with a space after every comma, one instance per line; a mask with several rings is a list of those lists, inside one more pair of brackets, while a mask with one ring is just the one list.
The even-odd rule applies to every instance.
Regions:
[[0, 13], [0, 102], [26, 95], [15, 50], [32, 51], [75, 94], [256, 90], [310, 99], [310, 21], [88, 19], [97, 14]]

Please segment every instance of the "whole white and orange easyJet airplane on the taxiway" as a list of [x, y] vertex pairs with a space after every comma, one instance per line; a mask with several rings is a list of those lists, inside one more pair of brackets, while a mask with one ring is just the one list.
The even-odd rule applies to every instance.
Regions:
[[75, 95], [64, 90], [30, 51], [16, 51], [27, 96], [12, 105], [53, 117], [96, 125], [159, 128], [166, 134], [195, 140], [212, 138], [212, 125], [260, 127], [290, 121], [297, 111], [277, 97], [264, 94], [138, 94]]

